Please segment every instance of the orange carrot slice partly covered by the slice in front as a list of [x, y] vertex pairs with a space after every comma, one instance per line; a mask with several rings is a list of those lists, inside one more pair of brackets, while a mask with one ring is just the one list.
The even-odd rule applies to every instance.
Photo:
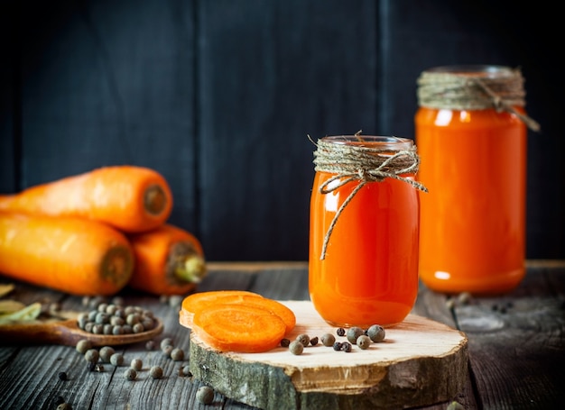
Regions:
[[181, 324], [190, 328], [194, 324], [195, 314], [212, 305], [246, 305], [266, 309], [282, 319], [286, 327], [285, 333], [290, 333], [296, 325], [296, 316], [287, 306], [268, 297], [241, 290], [208, 291], [185, 297], [179, 313]]

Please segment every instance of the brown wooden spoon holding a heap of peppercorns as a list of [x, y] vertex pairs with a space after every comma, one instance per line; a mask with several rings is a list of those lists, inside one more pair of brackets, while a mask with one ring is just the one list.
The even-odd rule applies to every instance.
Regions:
[[144, 342], [162, 333], [162, 322], [155, 318], [155, 326], [141, 333], [95, 334], [79, 328], [76, 319], [63, 321], [33, 321], [31, 323], [6, 323], [0, 325], [0, 344], [62, 344], [75, 346], [81, 339], [88, 339], [93, 346], [113, 346]]

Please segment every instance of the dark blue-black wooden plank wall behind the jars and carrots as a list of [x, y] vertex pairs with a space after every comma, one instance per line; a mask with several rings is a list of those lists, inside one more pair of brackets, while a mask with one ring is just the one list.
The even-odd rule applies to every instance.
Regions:
[[[306, 260], [313, 146], [413, 137], [416, 78], [521, 67], [527, 257], [565, 258], [562, 23], [502, 0], [75, 0], [0, 6], [0, 192], [135, 164], [208, 260]], [[539, 7], [539, 8], [536, 8]]]

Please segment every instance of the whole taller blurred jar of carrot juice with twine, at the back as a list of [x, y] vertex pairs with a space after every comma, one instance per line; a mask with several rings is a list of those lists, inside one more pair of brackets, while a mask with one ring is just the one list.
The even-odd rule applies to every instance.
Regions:
[[525, 260], [523, 77], [501, 66], [431, 68], [418, 78], [420, 278], [445, 293], [505, 293]]

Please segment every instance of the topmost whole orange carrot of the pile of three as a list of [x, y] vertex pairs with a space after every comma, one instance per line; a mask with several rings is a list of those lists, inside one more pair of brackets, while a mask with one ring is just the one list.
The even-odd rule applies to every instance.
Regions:
[[153, 169], [115, 166], [0, 196], [0, 210], [70, 215], [108, 223], [124, 232], [144, 232], [171, 214], [171, 188]]

